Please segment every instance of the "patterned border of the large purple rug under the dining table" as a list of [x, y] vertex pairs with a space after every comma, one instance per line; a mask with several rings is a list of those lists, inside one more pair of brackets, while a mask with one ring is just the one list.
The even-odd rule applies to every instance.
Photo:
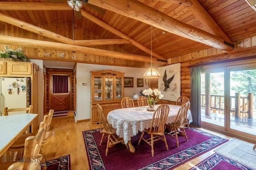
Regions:
[[[204, 141], [203, 143], [200, 143], [198, 145], [190, 147], [188, 149], [182, 150], [181, 152], [170, 155], [162, 160], [154, 162], [153, 164], [149, 164], [148, 166], [145, 166], [145, 167], [141, 168], [140, 170], [152, 169], [154, 167], [161, 167], [162, 169], [173, 169], [173, 168], [180, 166], [181, 164], [207, 152], [208, 150], [212, 150], [212, 149], [218, 147], [219, 145], [222, 145], [223, 143], [228, 141], [227, 139], [224, 139], [222, 137], [213, 135], [213, 134], [205, 132], [205, 131], [201, 131], [196, 128], [190, 128], [190, 130], [193, 130], [193, 131], [196, 131], [203, 135], [206, 135], [206, 136], [210, 137], [210, 139], [207, 141]], [[92, 135], [92, 133], [96, 133], [99, 131], [100, 131], [100, 129], [91, 129], [88, 131], [83, 131], [82, 133], [84, 136], [84, 143], [85, 143], [86, 152], [87, 152], [88, 159], [89, 159], [90, 168], [93, 170], [106, 170], [104, 163], [102, 161], [102, 158], [100, 156], [99, 150], [97, 148], [96, 142]]]

